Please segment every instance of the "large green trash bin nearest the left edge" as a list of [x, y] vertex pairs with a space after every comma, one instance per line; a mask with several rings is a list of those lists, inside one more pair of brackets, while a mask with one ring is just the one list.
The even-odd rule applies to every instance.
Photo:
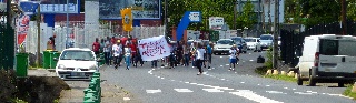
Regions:
[[16, 75], [17, 76], [27, 76], [28, 69], [28, 53], [17, 53], [16, 54]]

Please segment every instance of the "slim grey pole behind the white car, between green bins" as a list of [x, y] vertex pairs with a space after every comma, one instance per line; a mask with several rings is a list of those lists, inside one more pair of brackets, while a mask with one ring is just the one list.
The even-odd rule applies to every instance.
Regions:
[[40, 64], [40, 55], [41, 55], [41, 4], [38, 3], [37, 7], [37, 66]]

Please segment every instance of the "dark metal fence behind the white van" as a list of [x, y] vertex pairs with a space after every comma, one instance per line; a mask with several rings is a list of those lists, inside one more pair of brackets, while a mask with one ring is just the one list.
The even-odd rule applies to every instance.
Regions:
[[[280, 58], [285, 64], [296, 66], [299, 59], [296, 56], [297, 51], [303, 51], [304, 38], [317, 34], [342, 34], [342, 27], [339, 22], [322, 23], [307, 28], [303, 32], [295, 30], [280, 30]], [[356, 22], [347, 22], [347, 34], [356, 35]]]

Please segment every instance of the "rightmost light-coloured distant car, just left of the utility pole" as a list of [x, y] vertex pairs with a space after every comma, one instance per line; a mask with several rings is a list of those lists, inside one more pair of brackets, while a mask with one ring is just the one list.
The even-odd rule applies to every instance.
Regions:
[[259, 41], [261, 50], [269, 49], [274, 45], [274, 37], [271, 34], [261, 34]]

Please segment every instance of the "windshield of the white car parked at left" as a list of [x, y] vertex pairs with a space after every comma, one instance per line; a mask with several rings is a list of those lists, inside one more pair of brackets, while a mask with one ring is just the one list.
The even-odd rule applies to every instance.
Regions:
[[80, 60], [80, 61], [95, 61], [91, 51], [63, 51], [60, 60]]

